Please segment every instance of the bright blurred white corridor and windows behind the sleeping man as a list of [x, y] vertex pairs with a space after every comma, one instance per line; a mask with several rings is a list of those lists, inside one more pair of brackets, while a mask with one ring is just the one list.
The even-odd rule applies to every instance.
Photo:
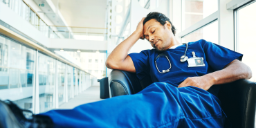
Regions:
[[[255, 0], [0, 0], [0, 99], [33, 113], [101, 100], [108, 55], [154, 11], [181, 43], [244, 54], [256, 82]], [[151, 48], [139, 39], [130, 53]]]

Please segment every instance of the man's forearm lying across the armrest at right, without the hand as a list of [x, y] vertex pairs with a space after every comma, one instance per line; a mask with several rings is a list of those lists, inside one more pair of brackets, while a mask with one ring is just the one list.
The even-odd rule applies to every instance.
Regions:
[[212, 84], [225, 84], [239, 79], [250, 79], [252, 72], [250, 68], [239, 60], [234, 60], [226, 68], [204, 75], [212, 80]]

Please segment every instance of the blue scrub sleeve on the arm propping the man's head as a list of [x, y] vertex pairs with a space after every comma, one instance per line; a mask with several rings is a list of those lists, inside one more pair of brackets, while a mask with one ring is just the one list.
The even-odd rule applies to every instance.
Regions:
[[149, 55], [147, 51], [141, 51], [140, 53], [130, 53], [129, 56], [134, 62], [137, 77], [142, 80], [146, 75], [149, 75]]

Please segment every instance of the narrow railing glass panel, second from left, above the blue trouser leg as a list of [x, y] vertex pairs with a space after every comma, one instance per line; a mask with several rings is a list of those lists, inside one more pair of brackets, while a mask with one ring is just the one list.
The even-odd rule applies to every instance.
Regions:
[[39, 111], [55, 108], [55, 60], [38, 54], [39, 75]]

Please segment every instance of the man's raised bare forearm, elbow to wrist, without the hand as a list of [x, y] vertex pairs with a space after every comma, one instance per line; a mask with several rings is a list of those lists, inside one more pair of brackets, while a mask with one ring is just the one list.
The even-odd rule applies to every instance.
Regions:
[[121, 64], [128, 55], [132, 46], [140, 39], [140, 33], [134, 31], [127, 39], [118, 44], [116, 48], [111, 52], [106, 61], [108, 68], [113, 68]]

